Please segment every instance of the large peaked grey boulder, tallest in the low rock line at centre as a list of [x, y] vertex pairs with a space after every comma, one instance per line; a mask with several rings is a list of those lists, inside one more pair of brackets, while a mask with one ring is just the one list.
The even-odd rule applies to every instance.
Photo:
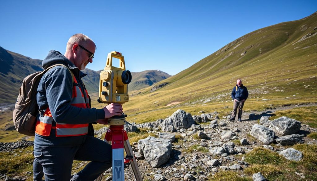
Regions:
[[171, 129], [171, 126], [175, 130], [179, 130], [181, 128], [188, 129], [194, 123], [195, 121], [190, 113], [186, 113], [184, 110], [178, 109], [170, 117], [160, 123], [160, 127], [164, 132], [171, 132], [174, 131]]

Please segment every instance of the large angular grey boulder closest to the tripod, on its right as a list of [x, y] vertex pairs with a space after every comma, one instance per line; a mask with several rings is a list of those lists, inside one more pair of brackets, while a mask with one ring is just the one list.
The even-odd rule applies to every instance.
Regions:
[[157, 168], [170, 159], [172, 145], [169, 139], [148, 137], [139, 140], [138, 150], [152, 167]]

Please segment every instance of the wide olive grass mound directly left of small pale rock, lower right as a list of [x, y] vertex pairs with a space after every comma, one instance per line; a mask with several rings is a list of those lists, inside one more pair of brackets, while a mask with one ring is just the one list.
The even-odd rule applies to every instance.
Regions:
[[278, 153], [265, 148], [254, 148], [245, 155], [246, 161], [250, 164], [273, 164], [279, 165], [285, 162], [285, 158]]

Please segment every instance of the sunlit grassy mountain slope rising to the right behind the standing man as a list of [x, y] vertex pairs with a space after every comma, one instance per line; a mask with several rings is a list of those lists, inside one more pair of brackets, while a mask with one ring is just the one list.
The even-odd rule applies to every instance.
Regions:
[[[317, 12], [246, 34], [192, 65], [130, 96], [125, 112], [134, 122], [153, 121], [178, 108], [231, 111], [236, 79], [248, 87], [245, 110], [316, 102]], [[267, 101], [262, 101], [267, 99]], [[136, 119], [136, 120], [134, 120]]]

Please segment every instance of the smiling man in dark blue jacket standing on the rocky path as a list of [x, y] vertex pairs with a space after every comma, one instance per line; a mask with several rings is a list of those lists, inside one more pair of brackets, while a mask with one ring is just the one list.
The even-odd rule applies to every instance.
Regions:
[[233, 100], [233, 110], [230, 121], [234, 121], [236, 119], [237, 109], [239, 108], [238, 120], [241, 120], [242, 116], [242, 108], [244, 105], [244, 101], [248, 99], [248, 89], [244, 87], [242, 81], [240, 79], [237, 80], [237, 84], [232, 89], [231, 98]]

